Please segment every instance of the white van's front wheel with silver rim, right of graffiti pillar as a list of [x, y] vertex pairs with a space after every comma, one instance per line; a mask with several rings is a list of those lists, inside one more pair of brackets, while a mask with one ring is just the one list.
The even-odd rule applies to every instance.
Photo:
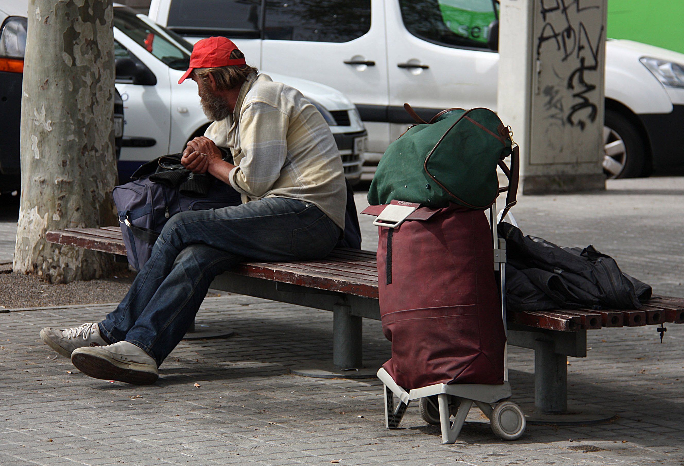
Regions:
[[608, 178], [650, 175], [650, 161], [640, 131], [622, 114], [605, 111], [603, 172]]

